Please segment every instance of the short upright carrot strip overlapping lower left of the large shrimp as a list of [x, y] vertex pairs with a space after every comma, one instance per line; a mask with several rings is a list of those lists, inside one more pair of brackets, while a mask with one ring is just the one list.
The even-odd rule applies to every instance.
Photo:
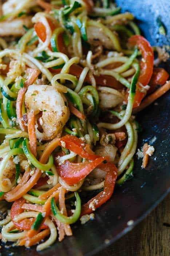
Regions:
[[37, 140], [35, 135], [35, 113], [31, 110], [28, 115], [28, 136], [31, 153], [36, 157], [37, 155]]

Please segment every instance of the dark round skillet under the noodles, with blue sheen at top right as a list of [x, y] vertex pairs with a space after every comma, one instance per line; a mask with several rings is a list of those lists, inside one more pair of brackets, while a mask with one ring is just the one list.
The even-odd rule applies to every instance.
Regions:
[[[130, 11], [139, 21], [145, 37], [152, 45], [170, 45], [170, 2], [168, 0], [117, 0], [122, 11]], [[161, 15], [167, 30], [167, 36], [159, 35], [156, 19]], [[169, 34], [169, 37], [168, 37]], [[170, 61], [165, 64], [170, 72]], [[35, 248], [5, 248], [2, 246], [1, 255], [16, 256], [81, 256], [94, 255], [110, 243], [114, 242], [134, 225], [146, 217], [147, 214], [170, 191], [170, 91], [138, 114], [138, 121], [144, 128], [139, 136], [138, 148], [144, 142], [151, 143], [156, 137], [153, 146], [154, 155], [149, 159], [146, 169], [141, 169], [141, 160], [135, 158], [135, 177], [127, 181], [122, 187], [116, 187], [111, 200], [95, 212], [95, 220], [85, 225], [79, 223], [73, 227], [74, 236], [67, 237], [43, 252], [37, 253]], [[131, 226], [127, 222], [133, 220]], [[10, 254], [13, 252], [14, 254]]]

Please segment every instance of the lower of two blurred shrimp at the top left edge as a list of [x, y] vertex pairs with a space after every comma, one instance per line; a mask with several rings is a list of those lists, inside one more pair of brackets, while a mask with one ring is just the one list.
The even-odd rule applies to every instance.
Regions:
[[31, 27], [32, 21], [31, 17], [25, 17], [25, 18], [17, 18], [13, 20], [7, 20], [0, 22], [0, 36], [9, 36], [14, 35], [16, 37], [24, 35], [25, 29], [23, 26]]

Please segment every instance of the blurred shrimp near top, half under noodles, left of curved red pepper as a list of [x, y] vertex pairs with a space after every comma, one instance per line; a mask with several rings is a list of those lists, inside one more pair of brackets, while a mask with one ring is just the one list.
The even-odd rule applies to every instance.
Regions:
[[114, 49], [114, 45], [111, 42], [110, 38], [108, 38], [107, 35], [104, 34], [103, 31], [101, 31], [101, 29], [99, 29], [98, 27], [87, 27], [87, 38], [88, 42], [92, 45], [96, 45], [96, 40], [99, 40], [105, 48], [110, 50]]

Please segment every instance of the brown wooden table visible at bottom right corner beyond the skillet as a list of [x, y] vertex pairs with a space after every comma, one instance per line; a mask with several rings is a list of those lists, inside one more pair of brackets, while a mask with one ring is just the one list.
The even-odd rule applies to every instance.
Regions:
[[170, 194], [133, 230], [96, 256], [170, 256]]

